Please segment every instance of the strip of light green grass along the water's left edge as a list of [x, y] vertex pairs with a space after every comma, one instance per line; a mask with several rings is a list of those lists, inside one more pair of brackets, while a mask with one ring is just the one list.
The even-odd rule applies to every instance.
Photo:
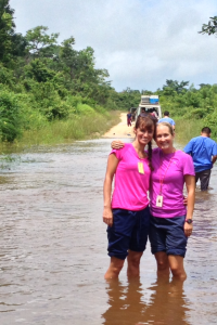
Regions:
[[74, 115], [67, 120], [48, 122], [39, 130], [24, 131], [22, 139], [13, 144], [1, 143], [0, 154], [21, 152], [33, 145], [54, 145], [100, 138], [119, 122], [119, 114], [118, 110], [111, 110], [104, 114]]

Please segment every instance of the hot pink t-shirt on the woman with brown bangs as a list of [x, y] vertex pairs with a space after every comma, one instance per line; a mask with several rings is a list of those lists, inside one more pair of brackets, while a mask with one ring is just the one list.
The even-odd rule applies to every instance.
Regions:
[[[115, 173], [115, 188], [112, 197], [112, 208], [140, 211], [149, 205], [151, 170], [148, 158], [139, 158], [131, 143], [126, 143], [120, 150], [113, 150], [119, 160]], [[138, 162], [143, 164], [144, 174], [139, 173]]]

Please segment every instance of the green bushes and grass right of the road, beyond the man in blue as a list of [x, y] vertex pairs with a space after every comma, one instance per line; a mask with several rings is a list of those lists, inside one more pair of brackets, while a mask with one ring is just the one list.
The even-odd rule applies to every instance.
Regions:
[[[161, 105], [164, 110], [169, 110], [177, 121], [177, 131], [187, 139], [199, 135], [202, 127], [212, 129], [212, 136], [217, 139], [217, 84], [200, 84], [195, 89], [189, 82], [181, 89], [176, 89], [178, 81], [166, 80], [166, 86], [157, 90], [161, 96]], [[182, 81], [183, 82], [183, 81]], [[179, 84], [180, 86], [180, 84]], [[182, 123], [182, 126], [181, 126]]]

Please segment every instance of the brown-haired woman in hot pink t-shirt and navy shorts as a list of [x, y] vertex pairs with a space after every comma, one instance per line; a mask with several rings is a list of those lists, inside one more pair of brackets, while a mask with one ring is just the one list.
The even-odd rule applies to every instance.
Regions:
[[[146, 192], [150, 186], [151, 141], [155, 125], [155, 119], [140, 116], [133, 130], [135, 141], [120, 150], [113, 150], [107, 159], [103, 221], [107, 224], [111, 263], [104, 276], [106, 280], [118, 277], [126, 257], [127, 275], [139, 275], [140, 259], [146, 246], [150, 226]], [[148, 154], [144, 151], [146, 144]], [[112, 196], [114, 174], [115, 188]]]

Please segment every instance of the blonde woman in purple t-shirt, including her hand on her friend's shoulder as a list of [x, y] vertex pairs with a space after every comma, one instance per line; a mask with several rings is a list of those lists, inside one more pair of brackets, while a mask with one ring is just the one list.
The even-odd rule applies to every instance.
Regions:
[[[192, 234], [195, 173], [191, 156], [174, 147], [174, 129], [168, 122], [156, 126], [157, 148], [152, 151], [153, 171], [150, 182], [150, 242], [157, 263], [157, 275], [184, 281], [183, 258]], [[120, 141], [112, 143], [119, 148]], [[183, 185], [188, 192], [183, 204]]]

